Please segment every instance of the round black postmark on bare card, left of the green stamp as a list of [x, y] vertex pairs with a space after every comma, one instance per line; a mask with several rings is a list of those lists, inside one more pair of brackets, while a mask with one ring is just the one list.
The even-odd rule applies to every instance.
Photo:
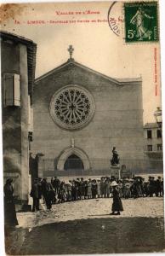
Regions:
[[122, 5], [120, 2], [113, 2], [108, 10], [108, 24], [111, 28], [111, 31], [114, 32], [117, 37], [121, 34], [122, 27]]

